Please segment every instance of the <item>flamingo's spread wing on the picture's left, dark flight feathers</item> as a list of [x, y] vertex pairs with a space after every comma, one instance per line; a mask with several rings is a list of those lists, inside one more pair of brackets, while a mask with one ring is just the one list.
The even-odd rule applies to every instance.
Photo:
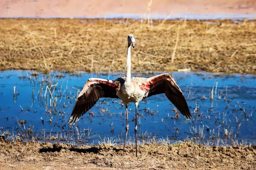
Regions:
[[80, 116], [92, 108], [99, 98], [118, 98], [116, 88], [118, 81], [91, 78], [84, 84], [83, 90], [78, 95], [75, 106], [68, 123], [75, 124]]

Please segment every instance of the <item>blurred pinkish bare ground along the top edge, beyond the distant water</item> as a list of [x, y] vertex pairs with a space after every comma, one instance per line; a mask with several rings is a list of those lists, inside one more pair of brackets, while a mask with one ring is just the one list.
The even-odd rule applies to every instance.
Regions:
[[255, 13], [255, 0], [1, 0], [0, 17], [105, 16], [110, 14], [176, 15], [184, 13]]

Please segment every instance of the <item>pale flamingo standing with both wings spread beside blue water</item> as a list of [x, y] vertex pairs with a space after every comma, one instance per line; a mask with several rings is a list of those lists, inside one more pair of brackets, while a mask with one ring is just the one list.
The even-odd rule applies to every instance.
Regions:
[[116, 80], [101, 78], [88, 79], [76, 99], [68, 123], [75, 124], [80, 119], [80, 116], [89, 111], [100, 98], [121, 99], [125, 104], [126, 116], [123, 148], [123, 151], [125, 151], [129, 129], [128, 104], [135, 103], [134, 131], [137, 157], [137, 108], [140, 101], [145, 101], [146, 98], [150, 96], [164, 93], [185, 118], [190, 119], [192, 118], [192, 115], [189, 111], [184, 94], [176, 84], [175, 80], [168, 73], [159, 74], [150, 78], [131, 77], [131, 46], [133, 48], [135, 47], [135, 37], [132, 34], [129, 34], [127, 40], [128, 46], [125, 77], [119, 77]]

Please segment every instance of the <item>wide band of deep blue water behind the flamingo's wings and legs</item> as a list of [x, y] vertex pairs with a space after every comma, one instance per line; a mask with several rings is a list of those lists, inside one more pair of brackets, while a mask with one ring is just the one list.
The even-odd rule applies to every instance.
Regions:
[[[125, 106], [122, 106], [120, 99], [102, 98], [75, 126], [67, 123], [78, 90], [82, 90], [87, 79], [108, 79], [108, 76], [109, 79], [116, 79], [124, 76], [123, 73], [108, 75], [81, 72], [79, 75], [70, 75], [51, 72], [45, 75], [38, 72], [37, 76], [33, 73], [0, 72], [0, 134], [8, 131], [10, 134], [6, 138], [14, 134], [20, 135], [24, 140], [30, 140], [34, 136], [38, 140], [79, 139], [78, 141], [88, 143], [98, 143], [103, 137], [113, 137], [120, 141], [124, 139]], [[63, 76], [59, 76], [60, 74]], [[139, 103], [139, 139], [155, 135], [158, 139], [168, 137], [173, 141], [189, 137], [202, 142], [222, 140], [231, 143], [234, 140], [244, 140], [255, 143], [256, 76], [191, 72], [169, 74], [183, 91], [193, 118], [187, 120], [179, 114], [178, 119], [175, 119], [175, 107], [164, 94], [151, 96], [147, 98], [147, 103]], [[154, 75], [157, 73], [135, 76]], [[57, 85], [51, 87], [53, 84]], [[46, 86], [51, 87], [51, 94], [48, 89], [45, 91]], [[212, 87], [214, 99], [210, 100]], [[51, 104], [54, 100], [57, 100], [56, 106]], [[198, 111], [196, 107], [199, 107]], [[133, 138], [134, 104], [131, 103], [128, 109], [128, 137]], [[26, 123], [20, 123], [22, 121]]]

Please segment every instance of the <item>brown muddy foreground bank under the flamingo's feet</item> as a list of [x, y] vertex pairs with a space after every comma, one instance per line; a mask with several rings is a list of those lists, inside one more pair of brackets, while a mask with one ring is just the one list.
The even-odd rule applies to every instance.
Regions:
[[71, 146], [61, 143], [0, 142], [0, 169], [256, 169], [256, 147], [195, 144]]

